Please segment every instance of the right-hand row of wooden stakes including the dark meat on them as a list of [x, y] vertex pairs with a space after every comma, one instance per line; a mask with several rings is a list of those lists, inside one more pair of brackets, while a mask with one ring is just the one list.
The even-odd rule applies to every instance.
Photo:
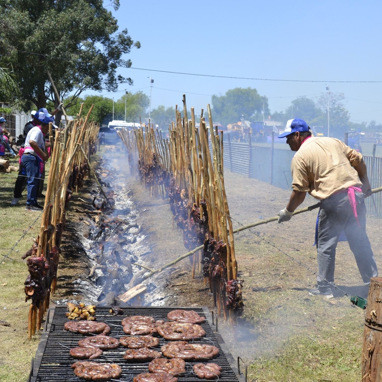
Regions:
[[[209, 126], [213, 126], [209, 105], [207, 112]], [[136, 168], [142, 185], [156, 197], [166, 193], [169, 198], [173, 222], [183, 232], [185, 247], [191, 250], [204, 244], [202, 253], [190, 251], [192, 276], [199, 261], [199, 271], [209, 283], [218, 314], [227, 318], [229, 313], [233, 324], [243, 311], [243, 280], [237, 279], [233, 228], [224, 187], [223, 132], [219, 136], [217, 129], [207, 129], [203, 109], [200, 129], [195, 126], [194, 108], [188, 120], [183, 95], [183, 117], [176, 105], [176, 121], [169, 126], [168, 139], [151, 125], [130, 131], [121, 129], [118, 134], [128, 150], [130, 168]]]

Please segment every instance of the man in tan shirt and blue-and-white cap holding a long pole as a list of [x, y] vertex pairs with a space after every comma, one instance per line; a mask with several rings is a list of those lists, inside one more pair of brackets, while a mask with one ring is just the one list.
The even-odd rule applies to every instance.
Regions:
[[304, 201], [306, 192], [321, 202], [317, 218], [317, 288], [310, 295], [332, 298], [335, 249], [345, 231], [365, 285], [378, 275], [377, 264], [366, 234], [364, 198], [371, 195], [366, 165], [360, 152], [339, 139], [312, 137], [304, 120], [286, 123], [286, 143], [296, 151], [291, 162], [292, 193], [286, 207], [278, 213], [278, 222], [291, 219]]

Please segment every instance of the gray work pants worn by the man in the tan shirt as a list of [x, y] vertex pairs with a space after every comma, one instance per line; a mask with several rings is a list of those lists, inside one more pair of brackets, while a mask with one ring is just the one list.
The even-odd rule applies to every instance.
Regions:
[[366, 206], [363, 194], [355, 192], [359, 225], [351, 208], [348, 193], [332, 195], [321, 201], [317, 236], [317, 284], [325, 289], [334, 282], [335, 249], [345, 231], [346, 238], [364, 283], [378, 275], [376, 259], [366, 234]]

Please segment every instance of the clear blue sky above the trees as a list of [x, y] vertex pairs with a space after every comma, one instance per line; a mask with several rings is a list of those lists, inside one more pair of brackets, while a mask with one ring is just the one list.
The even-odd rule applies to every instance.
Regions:
[[[125, 58], [132, 60], [133, 68], [150, 70], [120, 68], [119, 73], [133, 79], [128, 91], [147, 95], [147, 77], [154, 79], [152, 109], [181, 104], [185, 92], [188, 107], [194, 106], [199, 114], [210, 103], [210, 95], [250, 86], [269, 97], [274, 112], [285, 110], [299, 95], [314, 99], [325, 92], [326, 81], [382, 81], [380, 1], [120, 3], [113, 11], [120, 30], [127, 28], [133, 40], [141, 42], [141, 49], [133, 49]], [[211, 78], [153, 70], [324, 82]], [[382, 123], [382, 83], [329, 86], [348, 97], [345, 107], [352, 121]], [[118, 99], [122, 94], [108, 96]]]

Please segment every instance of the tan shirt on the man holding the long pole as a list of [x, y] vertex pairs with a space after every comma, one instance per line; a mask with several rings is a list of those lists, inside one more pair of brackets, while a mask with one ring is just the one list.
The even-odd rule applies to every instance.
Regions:
[[361, 159], [361, 153], [339, 139], [308, 138], [292, 159], [292, 188], [308, 191], [316, 199], [322, 200], [350, 186], [359, 187], [362, 183], [353, 167]]

